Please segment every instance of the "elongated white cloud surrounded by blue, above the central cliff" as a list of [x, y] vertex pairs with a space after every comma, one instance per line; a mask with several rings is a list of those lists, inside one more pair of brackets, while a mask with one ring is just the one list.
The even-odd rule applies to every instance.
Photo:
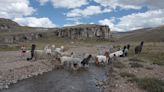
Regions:
[[88, 6], [85, 9], [73, 9], [66, 14], [67, 17], [86, 17], [94, 14], [110, 12], [110, 9], [101, 9], [100, 6]]

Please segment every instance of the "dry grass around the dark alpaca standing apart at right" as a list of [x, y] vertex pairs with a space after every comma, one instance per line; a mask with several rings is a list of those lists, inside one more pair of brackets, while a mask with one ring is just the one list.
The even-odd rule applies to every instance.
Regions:
[[135, 62], [149, 62], [157, 65], [164, 65], [164, 43], [161, 42], [145, 42], [141, 54], [135, 55], [134, 48], [139, 42], [130, 43], [131, 48], [129, 50], [130, 61]]

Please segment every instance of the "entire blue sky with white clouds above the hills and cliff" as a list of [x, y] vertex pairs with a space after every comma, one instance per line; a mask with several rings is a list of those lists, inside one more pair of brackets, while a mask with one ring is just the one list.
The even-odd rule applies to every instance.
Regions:
[[123, 32], [164, 25], [164, 0], [0, 0], [0, 18], [21, 26], [100, 24]]

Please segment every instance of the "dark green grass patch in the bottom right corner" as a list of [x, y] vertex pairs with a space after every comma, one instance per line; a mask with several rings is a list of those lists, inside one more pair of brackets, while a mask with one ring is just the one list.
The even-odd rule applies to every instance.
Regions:
[[132, 78], [130, 82], [135, 82], [137, 86], [147, 92], [164, 92], [164, 81], [156, 78]]

